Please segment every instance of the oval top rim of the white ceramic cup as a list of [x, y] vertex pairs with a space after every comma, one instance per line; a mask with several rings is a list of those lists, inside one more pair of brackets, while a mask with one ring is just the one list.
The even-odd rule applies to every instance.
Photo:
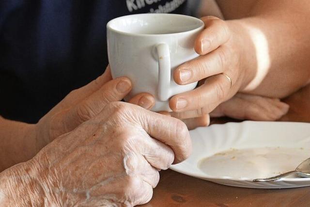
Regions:
[[[200, 27], [197, 27], [193, 30], [188, 30], [188, 31], [184, 31], [184, 32], [174, 32], [174, 33], [164, 33], [164, 34], [140, 34], [140, 33], [130, 33], [130, 32], [123, 32], [123, 31], [120, 31], [120, 30], [116, 30], [114, 28], [111, 27], [111, 24], [116, 21], [116, 20], [119, 20], [119, 19], [122, 19], [122, 18], [127, 18], [128, 16], [149, 16], [149, 15], [155, 15], [155, 16], [182, 16], [182, 17], [186, 17], [186, 18], [190, 18], [190, 19], [193, 19], [193, 20], [196, 20], [197, 22], [201, 23], [201, 26]], [[129, 36], [147, 36], [147, 37], [151, 37], [151, 36], [169, 36], [169, 35], [178, 35], [178, 34], [186, 34], [186, 33], [191, 33], [191, 32], [196, 32], [196, 31], [200, 31], [204, 28], [204, 22], [199, 19], [199, 18], [196, 18], [194, 16], [187, 16], [187, 15], [179, 15], [179, 14], [165, 14], [165, 13], [146, 13], [146, 14], [135, 14], [135, 15], [126, 15], [126, 16], [120, 16], [120, 17], [116, 17], [114, 19], [111, 19], [108, 23], [107, 23], [107, 30], [110, 30], [112, 32], [116, 32], [116, 33], [119, 33], [119, 34], [123, 34], [123, 35], [129, 35]]]

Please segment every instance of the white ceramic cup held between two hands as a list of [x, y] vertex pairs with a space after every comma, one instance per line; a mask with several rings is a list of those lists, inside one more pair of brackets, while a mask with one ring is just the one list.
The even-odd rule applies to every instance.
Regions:
[[202, 20], [175, 14], [139, 14], [112, 19], [107, 24], [108, 56], [113, 78], [125, 76], [133, 89], [125, 101], [147, 92], [155, 97], [152, 111], [171, 111], [169, 98], [196, 87], [178, 85], [174, 69], [198, 54], [194, 50]]

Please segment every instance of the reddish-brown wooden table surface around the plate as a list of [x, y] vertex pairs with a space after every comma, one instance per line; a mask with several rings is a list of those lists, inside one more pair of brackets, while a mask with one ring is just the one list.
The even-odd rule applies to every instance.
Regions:
[[[281, 121], [310, 122], [310, 86], [283, 100]], [[172, 170], [160, 172], [153, 199], [141, 207], [310, 207], [310, 187], [246, 189], [212, 183]]]

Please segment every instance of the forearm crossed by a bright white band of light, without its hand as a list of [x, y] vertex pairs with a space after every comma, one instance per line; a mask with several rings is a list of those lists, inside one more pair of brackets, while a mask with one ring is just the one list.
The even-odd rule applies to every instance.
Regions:
[[260, 0], [245, 18], [228, 21], [245, 50], [243, 92], [281, 98], [309, 82], [309, 17], [307, 0]]

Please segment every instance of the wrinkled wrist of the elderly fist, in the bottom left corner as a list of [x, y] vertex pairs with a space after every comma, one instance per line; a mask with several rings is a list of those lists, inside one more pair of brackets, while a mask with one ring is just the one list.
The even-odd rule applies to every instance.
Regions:
[[29, 160], [1, 172], [0, 206], [61, 206], [40, 170]]

